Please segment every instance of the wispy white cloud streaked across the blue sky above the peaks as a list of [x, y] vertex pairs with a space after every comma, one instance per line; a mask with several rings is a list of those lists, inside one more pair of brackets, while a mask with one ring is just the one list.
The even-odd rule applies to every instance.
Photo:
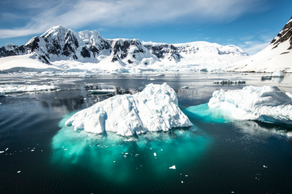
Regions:
[[[7, 1], [3, 1], [4, 3], [0, 3], [0, 7], [8, 5]], [[32, 11], [26, 14], [26, 17], [29, 17], [29, 22], [13, 29], [0, 29], [0, 38], [39, 34], [51, 26], [59, 24], [78, 29], [86, 25], [97, 27], [143, 26], [150, 23], [183, 22], [185, 20], [191, 22], [230, 22], [243, 14], [267, 9], [265, 6], [267, 1], [43, 0], [35, 3], [35, 1], [30, 0], [19, 0], [14, 1], [15, 6], [23, 6], [22, 11], [23, 8]], [[17, 12], [11, 14], [17, 14]], [[23, 12], [21, 14], [23, 15]]]

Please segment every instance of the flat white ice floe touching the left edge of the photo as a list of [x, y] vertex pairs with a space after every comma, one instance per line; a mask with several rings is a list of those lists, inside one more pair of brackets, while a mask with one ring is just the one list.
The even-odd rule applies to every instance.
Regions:
[[36, 91], [48, 91], [58, 90], [58, 86], [48, 85], [3, 85], [0, 86], [0, 96], [2, 93], [20, 93], [20, 92], [36, 92]]

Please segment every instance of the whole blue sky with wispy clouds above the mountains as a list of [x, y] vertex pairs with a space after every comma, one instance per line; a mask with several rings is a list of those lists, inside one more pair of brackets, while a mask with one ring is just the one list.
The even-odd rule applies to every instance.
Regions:
[[108, 39], [207, 41], [255, 54], [291, 15], [291, 0], [0, 0], [0, 47], [63, 25]]

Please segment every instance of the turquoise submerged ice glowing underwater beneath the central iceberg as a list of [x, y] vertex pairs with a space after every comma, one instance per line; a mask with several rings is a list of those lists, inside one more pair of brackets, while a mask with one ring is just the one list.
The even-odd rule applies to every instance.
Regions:
[[[122, 183], [141, 174], [167, 179], [171, 171], [183, 172], [194, 165], [212, 142], [192, 116], [192, 127], [124, 137], [74, 131], [72, 126], [65, 126], [73, 114], [64, 116], [61, 129], [52, 139], [52, 163], [87, 168], [108, 181]], [[176, 170], [169, 169], [173, 165]]]

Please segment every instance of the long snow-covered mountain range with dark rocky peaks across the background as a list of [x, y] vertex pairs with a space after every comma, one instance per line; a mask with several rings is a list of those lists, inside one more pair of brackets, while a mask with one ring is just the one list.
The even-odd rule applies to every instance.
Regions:
[[[23, 56], [23, 57], [20, 57]], [[226, 64], [248, 56], [241, 48], [209, 42], [167, 44], [138, 39], [105, 39], [97, 31], [79, 33], [61, 25], [20, 46], [0, 48], [0, 70], [58, 71], [132, 69], [221, 70]], [[28, 63], [23, 63], [23, 60]], [[33, 60], [33, 61], [32, 61]], [[21, 62], [22, 61], [22, 62]], [[32, 61], [30, 63], [29, 61]], [[43, 66], [41, 70], [37, 66]]]

